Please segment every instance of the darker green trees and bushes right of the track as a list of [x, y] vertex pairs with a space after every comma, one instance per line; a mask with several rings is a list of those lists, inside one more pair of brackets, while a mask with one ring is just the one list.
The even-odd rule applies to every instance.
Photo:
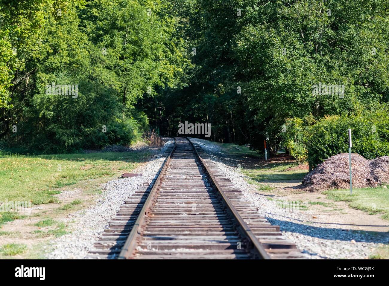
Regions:
[[347, 152], [389, 155], [386, 0], [176, 2], [193, 66], [156, 97], [153, 124], [174, 134], [209, 122], [212, 140], [281, 146], [314, 166]]

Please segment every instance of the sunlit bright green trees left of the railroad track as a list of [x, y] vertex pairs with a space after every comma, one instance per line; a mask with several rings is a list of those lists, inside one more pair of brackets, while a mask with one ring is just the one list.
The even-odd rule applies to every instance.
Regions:
[[138, 140], [135, 103], [179, 87], [189, 64], [172, 14], [167, 0], [1, 1], [0, 149]]

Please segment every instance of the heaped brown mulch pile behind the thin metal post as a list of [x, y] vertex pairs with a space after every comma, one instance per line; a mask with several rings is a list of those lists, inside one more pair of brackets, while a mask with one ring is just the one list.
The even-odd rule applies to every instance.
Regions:
[[[351, 154], [352, 186], [376, 187], [389, 183], [389, 157], [366, 160], [361, 155]], [[308, 192], [350, 187], [349, 154], [341, 153], [317, 165], [308, 173], [299, 188]]]

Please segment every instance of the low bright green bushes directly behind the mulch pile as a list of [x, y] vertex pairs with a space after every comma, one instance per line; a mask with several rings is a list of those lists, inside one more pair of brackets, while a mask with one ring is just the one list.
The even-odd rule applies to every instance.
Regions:
[[389, 154], [389, 113], [382, 106], [351, 115], [331, 115], [314, 120], [286, 120], [284, 144], [298, 163], [308, 161], [314, 167], [339, 153], [349, 152], [348, 129], [352, 129], [352, 151], [366, 159]]

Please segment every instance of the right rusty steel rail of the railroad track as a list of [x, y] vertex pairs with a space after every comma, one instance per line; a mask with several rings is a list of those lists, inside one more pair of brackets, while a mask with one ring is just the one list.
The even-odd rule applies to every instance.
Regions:
[[207, 164], [205, 163], [204, 159], [198, 153], [197, 148], [195, 147], [193, 142], [191, 140], [189, 140], [187, 137], [185, 137], [185, 138], [191, 143], [191, 145], [195, 149], [195, 152], [196, 152], [198, 158], [200, 159], [200, 162], [202, 163], [204, 168], [207, 170], [207, 173], [209, 174], [209, 177], [211, 178], [211, 180], [214, 183], [217, 191], [219, 192], [220, 196], [222, 197], [224, 204], [228, 208], [228, 211], [238, 221], [238, 230], [239, 230], [240, 234], [243, 235], [244, 237], [246, 237], [249, 240], [251, 245], [248, 245], [247, 247], [250, 248], [251, 252], [254, 255], [254, 258], [271, 259], [270, 256], [268, 255], [268, 253], [266, 252], [265, 248], [263, 248], [261, 242], [258, 241], [257, 237], [253, 234], [253, 232], [251, 231], [251, 229], [247, 225], [247, 223], [244, 221], [244, 219], [240, 216], [240, 214], [238, 213], [237, 209], [235, 209], [235, 207], [230, 202], [230, 200], [228, 199], [226, 194], [224, 194], [221, 186], [219, 185], [219, 183], [217, 183], [216, 178], [214, 177], [214, 175], [210, 171], [210, 169], [207, 166]]

